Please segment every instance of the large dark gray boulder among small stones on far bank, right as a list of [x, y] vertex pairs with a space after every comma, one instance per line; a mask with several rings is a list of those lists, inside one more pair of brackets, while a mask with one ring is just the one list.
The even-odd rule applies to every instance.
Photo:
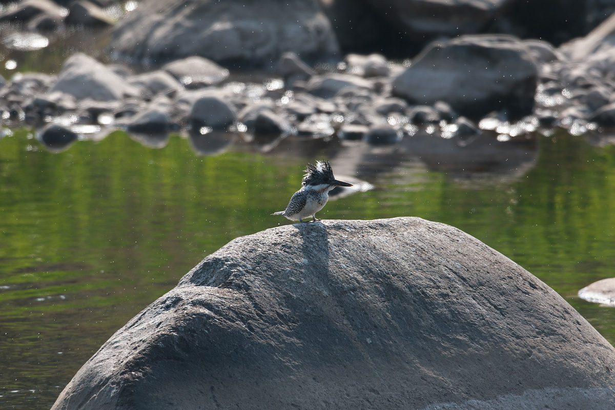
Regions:
[[392, 93], [415, 104], [445, 101], [460, 114], [483, 117], [507, 109], [531, 114], [538, 65], [512, 36], [462, 36], [434, 42], [392, 83]]

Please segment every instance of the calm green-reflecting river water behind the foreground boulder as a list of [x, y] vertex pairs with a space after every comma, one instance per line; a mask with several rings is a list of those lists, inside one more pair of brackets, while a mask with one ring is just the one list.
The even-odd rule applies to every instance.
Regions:
[[[59, 154], [25, 130], [0, 140], [0, 408], [49, 408], [114, 331], [200, 259], [288, 223], [269, 214], [284, 209], [313, 159], [197, 157], [179, 136], [150, 149], [121, 132]], [[542, 140], [536, 167], [512, 181], [421, 166], [365, 179], [376, 189], [330, 202], [319, 217], [413, 215], [459, 227], [615, 342], [615, 310], [576, 297], [615, 276], [613, 146]]]

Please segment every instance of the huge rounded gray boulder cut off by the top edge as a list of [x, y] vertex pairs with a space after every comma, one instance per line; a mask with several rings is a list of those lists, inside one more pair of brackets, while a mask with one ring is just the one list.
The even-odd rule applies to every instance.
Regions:
[[145, 0], [120, 22], [111, 48], [137, 60], [199, 55], [217, 62], [273, 66], [282, 53], [338, 53], [315, 0]]

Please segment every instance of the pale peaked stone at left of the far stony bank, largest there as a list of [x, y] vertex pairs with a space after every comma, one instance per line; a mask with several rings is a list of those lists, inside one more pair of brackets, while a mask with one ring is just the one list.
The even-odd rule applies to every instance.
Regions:
[[73, 95], [76, 100], [92, 98], [98, 101], [116, 101], [141, 95], [137, 87], [83, 53], [73, 54], [64, 62], [51, 91]]

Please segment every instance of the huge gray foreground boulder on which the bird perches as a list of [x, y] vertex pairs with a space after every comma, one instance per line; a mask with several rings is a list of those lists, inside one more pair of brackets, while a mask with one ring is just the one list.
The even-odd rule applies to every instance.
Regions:
[[53, 409], [611, 409], [614, 366], [557, 293], [470, 235], [332, 220], [207, 256]]

